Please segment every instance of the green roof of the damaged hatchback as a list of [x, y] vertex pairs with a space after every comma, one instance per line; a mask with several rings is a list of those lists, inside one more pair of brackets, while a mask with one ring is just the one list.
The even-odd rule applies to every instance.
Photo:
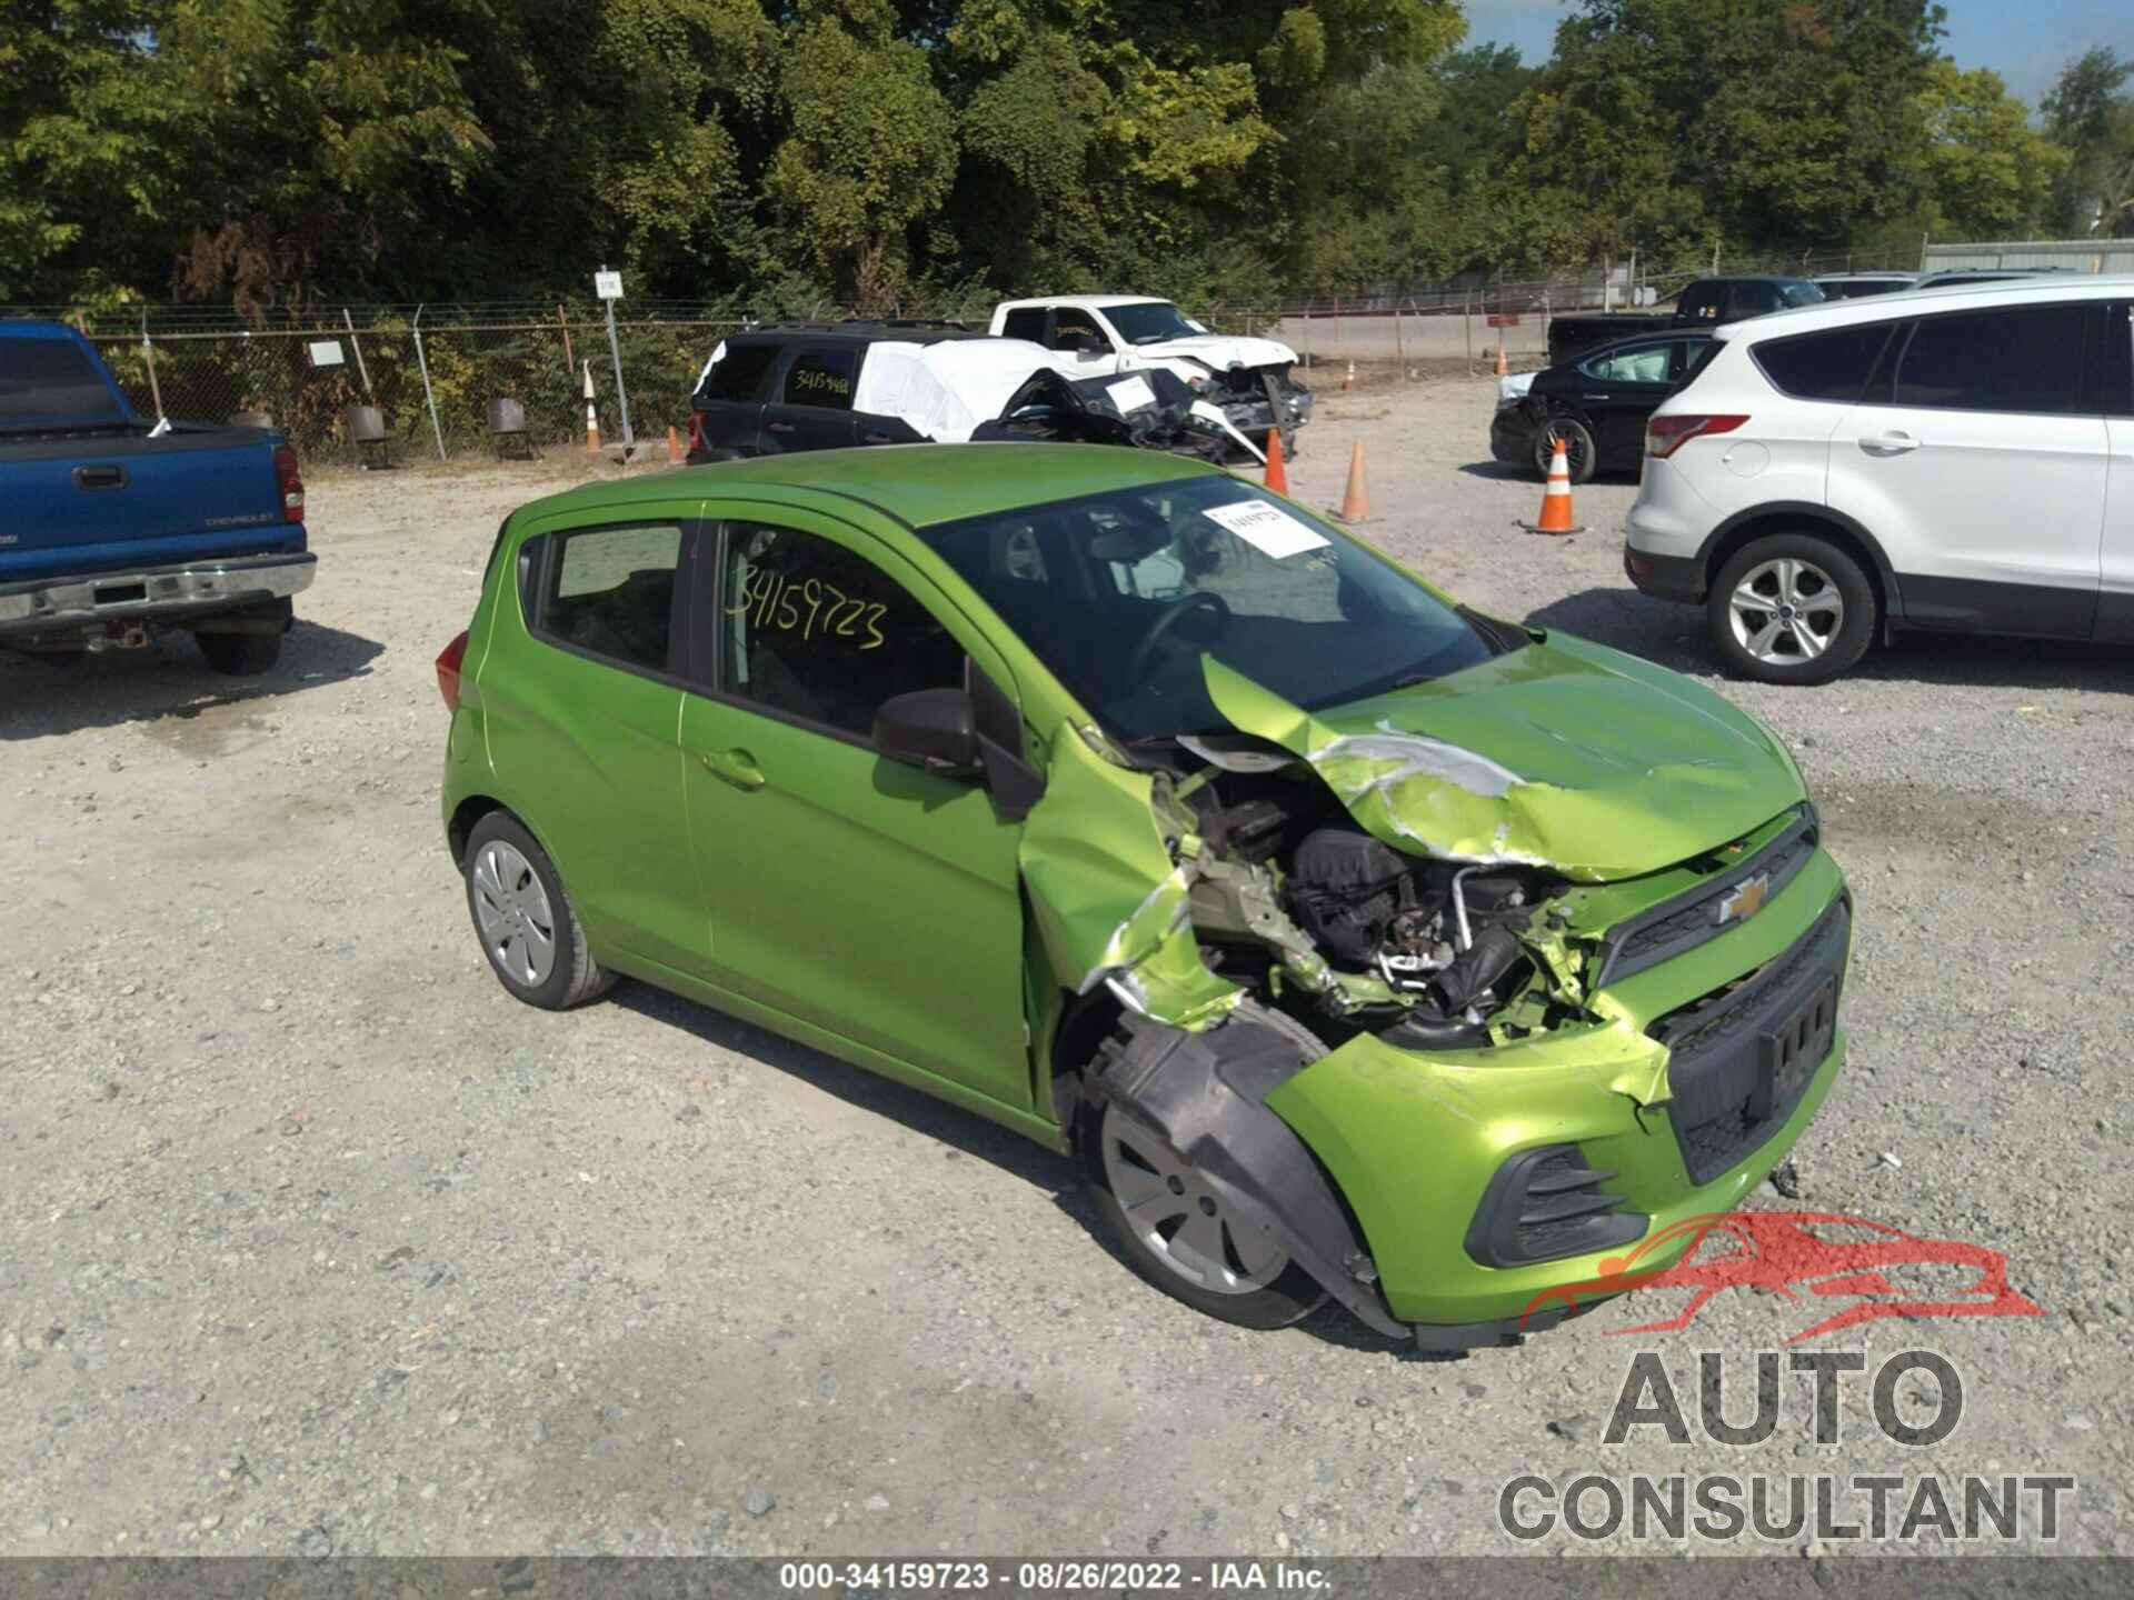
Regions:
[[1108, 444], [886, 444], [798, 450], [583, 484], [521, 506], [514, 521], [557, 512], [625, 510], [644, 501], [698, 495], [734, 495], [832, 514], [839, 499], [860, 501], [918, 529], [1018, 506], [1046, 506], [1114, 489], [1214, 476], [1229, 474], [1163, 450]]

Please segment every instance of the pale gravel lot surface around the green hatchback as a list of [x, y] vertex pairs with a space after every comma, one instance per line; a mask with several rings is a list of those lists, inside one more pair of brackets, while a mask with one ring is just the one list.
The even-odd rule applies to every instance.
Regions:
[[[1490, 395], [1327, 395], [1291, 482], [1338, 501], [1364, 439], [1370, 535], [1711, 678], [1701, 617], [1622, 580], [1630, 484], [1577, 491], [1581, 538], [1513, 529], [1539, 484], [1475, 465]], [[1246, 1333], [975, 1118], [638, 986], [514, 1005], [440, 843], [431, 659], [499, 516], [578, 471], [316, 480], [320, 582], [258, 683], [186, 642], [0, 657], [0, 1551], [1468, 1553], [1515, 1549], [1528, 1470], [2064, 1472], [2059, 1549], [2134, 1551], [2134, 659], [1912, 642], [1724, 685], [1859, 898], [1801, 1203], [2006, 1250], [2049, 1314], [1816, 1346], [1957, 1363], [1925, 1451], [1865, 1382], [1816, 1444], [1797, 1376], [1763, 1446], [1609, 1446], [1639, 1344], [1688, 1399], [1692, 1350], [1746, 1376], [1814, 1318], [1735, 1293], [1609, 1338], [1679, 1303], [1633, 1297], [1451, 1361], [1329, 1312]]]

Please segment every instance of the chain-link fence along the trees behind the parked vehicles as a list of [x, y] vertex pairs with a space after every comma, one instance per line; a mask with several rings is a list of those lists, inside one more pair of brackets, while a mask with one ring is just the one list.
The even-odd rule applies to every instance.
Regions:
[[[1703, 262], [1707, 271], [1720, 262]], [[1803, 254], [1729, 260], [1726, 271], [1865, 271], [1893, 265], [1867, 254]], [[1344, 294], [1293, 294], [1263, 305], [1187, 305], [1216, 333], [1274, 337], [1315, 365], [1321, 358], [1487, 358], [1502, 339], [1513, 354], [1545, 348], [1560, 311], [1665, 303], [1701, 273], [1654, 273], [1637, 260], [1551, 279], [1507, 282], [1472, 273], [1449, 284], [1364, 284]], [[265, 416], [307, 461], [352, 461], [350, 407], [376, 407], [397, 461], [465, 459], [497, 450], [491, 401], [514, 401], [534, 448], [585, 446], [585, 386], [602, 442], [623, 437], [617, 365], [638, 439], [687, 431], [689, 390], [719, 339], [783, 320], [837, 322], [854, 307], [696, 305], [636, 301], [615, 324], [595, 305], [491, 303], [452, 307], [371, 305], [339, 311], [271, 311], [237, 324], [228, 309], [169, 305], [124, 320], [66, 307], [64, 316], [111, 363], [143, 416], [224, 422]], [[905, 318], [947, 318], [984, 329], [990, 305], [898, 305]], [[510, 439], [516, 446], [519, 439]]]

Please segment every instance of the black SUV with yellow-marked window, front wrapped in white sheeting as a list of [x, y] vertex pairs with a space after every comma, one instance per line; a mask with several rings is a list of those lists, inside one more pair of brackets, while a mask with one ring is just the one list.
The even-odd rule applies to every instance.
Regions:
[[866, 348], [984, 339], [960, 322], [781, 322], [734, 333], [689, 397], [689, 461], [847, 444], [918, 444], [896, 416], [851, 410]]

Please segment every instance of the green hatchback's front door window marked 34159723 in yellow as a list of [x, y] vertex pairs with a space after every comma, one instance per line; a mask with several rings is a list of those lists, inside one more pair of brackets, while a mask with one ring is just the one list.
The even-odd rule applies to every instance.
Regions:
[[873, 561], [790, 527], [726, 531], [721, 689], [805, 723], [873, 738], [875, 710], [962, 685], [962, 646]]

